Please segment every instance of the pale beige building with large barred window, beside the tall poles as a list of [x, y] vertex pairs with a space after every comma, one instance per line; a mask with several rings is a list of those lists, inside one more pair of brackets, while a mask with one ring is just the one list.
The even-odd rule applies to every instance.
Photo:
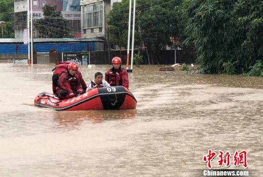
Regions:
[[82, 38], [102, 38], [108, 40], [106, 17], [111, 10], [111, 0], [81, 0]]

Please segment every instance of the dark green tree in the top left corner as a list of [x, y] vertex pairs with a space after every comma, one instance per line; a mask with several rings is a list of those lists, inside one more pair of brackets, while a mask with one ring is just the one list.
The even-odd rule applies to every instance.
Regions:
[[[14, 38], [14, 28], [12, 23], [12, 13], [14, 12], [13, 0], [0, 0], [0, 21], [5, 21], [4, 38]], [[0, 28], [1, 34], [1, 28]], [[0, 35], [0, 38], [2, 35]]]

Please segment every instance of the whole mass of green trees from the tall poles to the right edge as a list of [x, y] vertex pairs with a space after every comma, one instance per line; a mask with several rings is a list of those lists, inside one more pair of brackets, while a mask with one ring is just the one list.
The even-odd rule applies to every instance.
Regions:
[[[126, 48], [128, 18], [129, 0], [114, 3], [108, 16], [113, 45]], [[146, 44], [158, 62], [169, 36], [184, 40], [181, 47], [195, 46], [204, 73], [255, 73], [263, 63], [263, 1], [137, 0], [135, 45]]]

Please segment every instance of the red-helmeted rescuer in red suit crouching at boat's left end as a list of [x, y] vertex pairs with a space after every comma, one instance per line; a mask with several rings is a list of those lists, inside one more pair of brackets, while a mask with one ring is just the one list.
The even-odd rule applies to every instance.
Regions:
[[76, 74], [77, 70], [77, 64], [72, 62], [68, 65], [68, 71], [59, 76], [59, 86], [56, 87], [58, 98], [69, 99], [82, 94], [80, 79]]

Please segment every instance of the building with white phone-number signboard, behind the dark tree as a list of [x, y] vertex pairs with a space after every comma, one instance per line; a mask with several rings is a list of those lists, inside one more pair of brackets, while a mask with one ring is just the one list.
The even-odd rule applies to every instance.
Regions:
[[[14, 0], [15, 38], [23, 38], [23, 29], [27, 28], [27, 1]], [[33, 19], [43, 18], [42, 7], [45, 4], [56, 4], [56, 11], [61, 12], [63, 18], [68, 20], [67, 27], [71, 31], [70, 34], [80, 37], [80, 0], [33, 0]], [[39, 37], [38, 31], [34, 29], [33, 37]]]

